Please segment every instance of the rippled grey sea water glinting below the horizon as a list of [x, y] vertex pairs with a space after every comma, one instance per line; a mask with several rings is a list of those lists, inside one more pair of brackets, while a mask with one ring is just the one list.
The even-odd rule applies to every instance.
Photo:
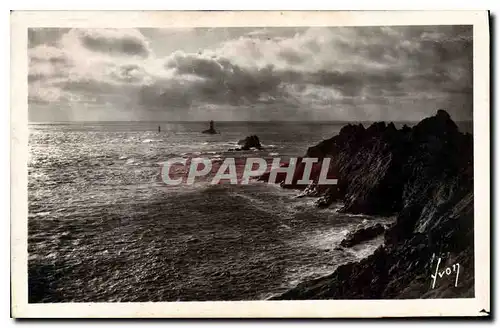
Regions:
[[[29, 301], [266, 299], [381, 244], [337, 248], [349, 231], [392, 218], [318, 209], [263, 182], [160, 179], [172, 157], [301, 156], [342, 125], [222, 122], [220, 134], [201, 134], [206, 125], [30, 124]], [[228, 151], [251, 134], [263, 150]]]

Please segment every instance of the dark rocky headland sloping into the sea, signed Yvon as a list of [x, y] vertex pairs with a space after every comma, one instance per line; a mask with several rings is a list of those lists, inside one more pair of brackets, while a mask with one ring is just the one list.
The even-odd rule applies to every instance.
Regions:
[[[371, 256], [272, 299], [474, 297], [472, 147], [472, 135], [460, 132], [444, 110], [411, 128], [349, 124], [310, 147], [305, 157], [330, 157], [339, 183], [320, 188], [313, 182], [304, 196], [318, 197], [321, 207], [342, 201], [342, 212], [396, 215], [396, 221], [368, 232], [384, 234]], [[443, 274], [432, 284], [437, 267], [441, 272], [458, 263], [459, 274]]]

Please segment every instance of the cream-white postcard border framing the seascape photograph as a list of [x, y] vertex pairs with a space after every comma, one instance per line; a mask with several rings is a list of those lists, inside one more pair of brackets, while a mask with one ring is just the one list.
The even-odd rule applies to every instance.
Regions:
[[[29, 27], [473, 25], [475, 298], [28, 304]], [[486, 11], [15, 11], [11, 13], [11, 284], [17, 318], [479, 316], [490, 311], [489, 21]]]

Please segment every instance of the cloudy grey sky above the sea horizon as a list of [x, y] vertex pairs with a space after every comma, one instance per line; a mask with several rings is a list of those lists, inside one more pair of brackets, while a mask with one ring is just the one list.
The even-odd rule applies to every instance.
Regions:
[[28, 114], [54, 121], [472, 119], [472, 27], [28, 31]]

